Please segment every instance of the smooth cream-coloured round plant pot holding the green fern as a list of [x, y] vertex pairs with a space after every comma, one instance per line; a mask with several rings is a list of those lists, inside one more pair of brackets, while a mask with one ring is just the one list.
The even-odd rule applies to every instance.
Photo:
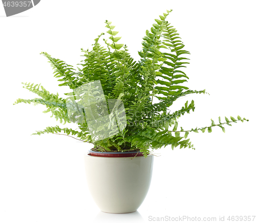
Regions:
[[84, 155], [87, 182], [95, 203], [108, 213], [136, 211], [150, 188], [154, 157], [134, 157], [136, 153], [132, 157], [117, 156], [125, 153], [115, 153], [115, 157], [110, 157], [114, 153], [104, 154], [109, 156]]

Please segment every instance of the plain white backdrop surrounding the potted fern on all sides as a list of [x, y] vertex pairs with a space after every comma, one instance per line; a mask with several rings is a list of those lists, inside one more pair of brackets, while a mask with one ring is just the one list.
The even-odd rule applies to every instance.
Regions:
[[[5, 17], [0, 6], [1, 150], [0, 222], [148, 222], [153, 217], [256, 215], [255, 1], [60, 1]], [[150, 191], [132, 214], [100, 212], [84, 172], [88, 143], [59, 135], [31, 136], [55, 126], [42, 105], [13, 105], [37, 95], [22, 82], [52, 93], [69, 92], [52, 75], [40, 52], [76, 66], [80, 48], [90, 48], [112, 21], [131, 55], [139, 59], [145, 30], [166, 9], [191, 55], [187, 86], [210, 95], [190, 95], [196, 109], [180, 118], [183, 129], [210, 125], [210, 118], [240, 115], [249, 122], [191, 133], [196, 150], [156, 151]], [[63, 95], [65, 96], [65, 95]], [[69, 127], [69, 125], [66, 125]], [[102, 169], [102, 171], [104, 171]], [[102, 190], [109, 188], [102, 185]], [[254, 219], [256, 222], [256, 219]], [[229, 221], [225, 221], [229, 222]]]

